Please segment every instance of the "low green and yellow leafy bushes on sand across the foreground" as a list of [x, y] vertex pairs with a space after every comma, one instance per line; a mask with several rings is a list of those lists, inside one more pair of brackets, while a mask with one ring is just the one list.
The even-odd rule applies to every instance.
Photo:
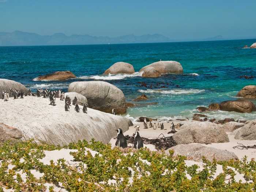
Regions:
[[[69, 165], [65, 159], [44, 165], [40, 159], [44, 150], [76, 149], [70, 154], [77, 162]], [[97, 151], [94, 156], [86, 150]], [[126, 150], [127, 151], [127, 150]], [[133, 152], [131, 152], [133, 151]], [[218, 162], [223, 165], [223, 173], [214, 178], [217, 162], [204, 159], [203, 170], [197, 165], [186, 166], [185, 157], [167, 156], [163, 151], [152, 152], [147, 148], [128, 149], [124, 154], [121, 148], [113, 148], [95, 140], [71, 143], [68, 146], [37, 144], [33, 140], [0, 146], [0, 192], [3, 188], [18, 191], [54, 191], [53, 186], [61, 186], [67, 191], [121, 191], [121, 192], [197, 192], [197, 191], [254, 191], [256, 184], [256, 163], [254, 159]], [[246, 181], [236, 182], [235, 173], [230, 167], [244, 174]], [[36, 178], [31, 170], [43, 173]], [[26, 176], [21, 176], [21, 173]], [[190, 177], [190, 179], [188, 179]], [[226, 178], [230, 180], [226, 180]], [[109, 181], [113, 181], [110, 183]]]

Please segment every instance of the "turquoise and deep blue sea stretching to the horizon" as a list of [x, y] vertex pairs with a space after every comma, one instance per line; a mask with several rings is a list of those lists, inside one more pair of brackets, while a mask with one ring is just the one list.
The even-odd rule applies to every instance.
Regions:
[[[147, 101], [128, 108], [124, 116], [191, 118], [198, 106], [212, 102], [234, 100], [240, 89], [256, 84], [256, 49], [243, 49], [256, 39], [173, 42], [152, 44], [110, 44], [71, 46], [10, 46], [0, 47], [0, 78], [18, 81], [29, 89], [50, 88], [67, 91], [74, 81], [102, 80], [120, 88], [127, 102], [142, 93]], [[163, 75], [160, 78], [142, 78], [133, 75], [101, 75], [118, 61], [130, 63], [139, 71], [145, 65], [159, 60], [181, 63], [184, 74]], [[77, 78], [66, 81], [33, 81], [39, 75], [69, 70]], [[241, 75], [255, 76], [241, 79]], [[153, 89], [140, 87], [145, 82]], [[157, 83], [168, 83], [167, 88], [155, 88]], [[166, 85], [165, 85], [166, 86]], [[157, 105], [148, 103], [157, 102]], [[256, 101], [253, 101], [256, 103]], [[256, 113], [210, 112], [210, 117], [255, 119]]]

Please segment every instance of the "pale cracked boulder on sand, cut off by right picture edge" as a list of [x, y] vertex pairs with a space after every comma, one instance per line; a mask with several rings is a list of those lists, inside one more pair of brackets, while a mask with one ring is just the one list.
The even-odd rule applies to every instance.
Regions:
[[241, 127], [235, 135], [237, 140], [256, 140], [256, 121]]

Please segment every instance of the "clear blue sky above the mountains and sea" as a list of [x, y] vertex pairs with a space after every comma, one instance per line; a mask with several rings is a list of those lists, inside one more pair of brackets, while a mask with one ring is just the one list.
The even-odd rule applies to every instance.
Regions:
[[0, 31], [256, 38], [256, 0], [0, 0]]

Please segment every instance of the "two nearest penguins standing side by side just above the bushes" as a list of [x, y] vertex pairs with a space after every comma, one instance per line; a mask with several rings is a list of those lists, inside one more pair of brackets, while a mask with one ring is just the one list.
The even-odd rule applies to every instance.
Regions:
[[[116, 146], [126, 148], [127, 147], [127, 140], [123, 134], [122, 129], [117, 129], [117, 140], [116, 140]], [[135, 133], [132, 135], [134, 136], [134, 148], [139, 149], [143, 147], [143, 140], [140, 137], [140, 133], [138, 131], [135, 131]]]

